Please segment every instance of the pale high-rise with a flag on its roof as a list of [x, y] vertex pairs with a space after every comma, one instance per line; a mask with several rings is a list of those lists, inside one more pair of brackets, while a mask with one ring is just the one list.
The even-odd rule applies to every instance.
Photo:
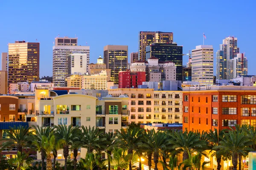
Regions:
[[213, 84], [212, 45], [198, 45], [192, 50], [192, 82], [202, 85]]

